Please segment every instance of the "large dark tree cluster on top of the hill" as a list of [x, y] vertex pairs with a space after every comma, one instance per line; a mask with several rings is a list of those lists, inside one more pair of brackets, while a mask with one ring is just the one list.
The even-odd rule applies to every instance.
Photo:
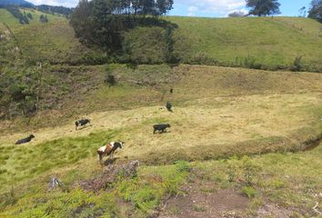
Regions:
[[71, 15], [80, 41], [107, 53], [122, 50], [123, 34], [136, 25], [163, 25], [158, 15], [172, 9], [173, 0], [81, 0]]

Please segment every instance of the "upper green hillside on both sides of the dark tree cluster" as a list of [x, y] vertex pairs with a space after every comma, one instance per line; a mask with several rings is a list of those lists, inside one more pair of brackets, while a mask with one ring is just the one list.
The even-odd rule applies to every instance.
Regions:
[[[39, 15], [44, 13], [30, 9], [21, 9], [21, 11], [30, 12], [33, 15], [32, 25], [18, 25], [15, 18], [10, 16], [5, 9], [0, 9], [0, 18], [14, 30], [26, 50], [26, 55], [40, 55], [54, 64], [80, 62], [69, 56], [77, 55], [80, 45], [77, 45], [74, 32], [65, 18], [58, 15], [47, 15], [50, 24], [39, 25]], [[173, 32], [173, 53], [181, 63], [220, 64], [277, 70], [290, 68], [295, 59], [302, 56], [300, 64], [303, 69], [308, 71], [322, 69], [322, 54], [319, 49], [322, 47], [322, 25], [312, 19], [301, 17], [200, 18], [177, 16], [163, 18], [176, 25]], [[150, 31], [153, 32], [152, 29]], [[131, 34], [132, 32], [133, 34]], [[126, 34], [129, 41], [135, 41], [132, 42], [136, 46], [134, 52], [137, 55], [142, 55], [149, 51], [152, 63], [158, 62], [159, 54], [155, 53], [161, 53], [161, 51], [141, 47], [149, 45], [151, 48], [155, 48], [155, 46], [157, 48], [156, 40], [151, 38], [151, 42], [149, 42], [148, 37], [137, 37], [136, 32], [137, 30], [130, 30]], [[146, 30], [147, 35], [149, 35], [148, 33]], [[153, 36], [153, 33], [150, 34]], [[34, 37], [30, 37], [30, 35], [34, 35]], [[140, 42], [140, 40], [145, 42]], [[162, 42], [160, 43], [162, 44]], [[82, 48], [81, 51], [84, 49]], [[44, 50], [48, 51], [44, 52]], [[63, 54], [68, 55], [64, 61], [60, 58], [60, 55]], [[79, 54], [77, 56], [78, 59], [83, 58], [83, 63], [102, 63], [101, 54], [96, 54], [96, 52], [81, 57]], [[133, 58], [136, 60], [137, 57]]]

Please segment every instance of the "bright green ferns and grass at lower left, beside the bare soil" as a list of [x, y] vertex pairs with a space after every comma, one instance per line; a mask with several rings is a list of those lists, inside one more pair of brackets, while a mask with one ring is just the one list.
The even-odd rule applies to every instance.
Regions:
[[[134, 178], [119, 177], [100, 193], [86, 193], [75, 188], [69, 193], [59, 189], [46, 193], [32, 185], [16, 203], [4, 195], [1, 216], [15, 217], [145, 217], [152, 213], [166, 195], [176, 194], [189, 171], [186, 162], [142, 168]], [[72, 183], [69, 184], [70, 186]], [[11, 205], [11, 206], [10, 206]], [[134, 213], [134, 214], [133, 214]]]

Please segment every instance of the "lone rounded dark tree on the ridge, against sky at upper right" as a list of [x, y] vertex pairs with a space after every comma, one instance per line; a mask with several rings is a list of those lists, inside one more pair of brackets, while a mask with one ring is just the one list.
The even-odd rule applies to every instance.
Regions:
[[280, 14], [280, 4], [277, 0], [246, 0], [247, 7], [250, 8], [248, 15], [278, 15]]

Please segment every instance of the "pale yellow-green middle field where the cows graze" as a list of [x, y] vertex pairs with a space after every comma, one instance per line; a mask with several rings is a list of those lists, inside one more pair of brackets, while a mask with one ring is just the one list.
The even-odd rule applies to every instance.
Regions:
[[[96, 148], [113, 140], [126, 142], [125, 151], [119, 154], [121, 160], [158, 164], [297, 151], [321, 136], [322, 74], [181, 65], [173, 69], [179, 78], [171, 84], [174, 94], [164, 94], [170, 84], [163, 84], [152, 89], [133, 86], [134, 95], [122, 95], [122, 90], [128, 90], [130, 85], [122, 75], [125, 71], [119, 70], [122, 67], [116, 67], [114, 74], [123, 76], [123, 82], [98, 88], [87, 96], [86, 104], [100, 104], [95, 108], [99, 111], [110, 104], [131, 104], [135, 98], [138, 102], [132, 109], [83, 114], [92, 119], [93, 126], [79, 131], [75, 131], [74, 120], [62, 121], [58, 116], [55, 127], [37, 129], [32, 121], [24, 133], [5, 131], [0, 137], [0, 179], [4, 188], [13, 181], [24, 182], [86, 158], [96, 162]], [[143, 71], [154, 66], [140, 67]], [[259, 80], [263, 82], [258, 83]], [[142, 100], [137, 99], [143, 96]], [[145, 100], [149, 96], [151, 99]], [[174, 113], [166, 111], [166, 101], [174, 104]], [[75, 108], [83, 107], [83, 103], [70, 102]], [[50, 118], [45, 121], [50, 122]], [[159, 123], [172, 127], [167, 134], [153, 134], [152, 125]], [[35, 141], [13, 145], [25, 133], [35, 134]]]

